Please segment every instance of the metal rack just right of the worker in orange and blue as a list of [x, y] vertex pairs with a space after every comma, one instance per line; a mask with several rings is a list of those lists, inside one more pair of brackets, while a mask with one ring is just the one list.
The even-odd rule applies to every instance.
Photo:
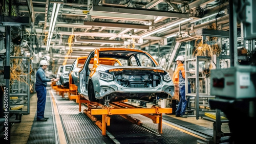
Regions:
[[188, 108], [196, 111], [196, 118], [204, 116], [205, 112], [215, 112], [210, 110], [208, 100], [215, 98], [210, 95], [209, 81], [207, 73], [203, 73], [203, 69], [209, 68], [210, 57], [197, 56], [193, 59], [185, 60], [185, 79], [189, 80], [191, 85], [191, 93], [188, 93], [188, 81], [186, 84], [186, 97], [190, 97]]

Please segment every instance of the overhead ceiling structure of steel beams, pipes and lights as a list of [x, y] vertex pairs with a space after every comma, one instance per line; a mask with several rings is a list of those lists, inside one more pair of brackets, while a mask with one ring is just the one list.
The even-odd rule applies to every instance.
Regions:
[[[229, 29], [228, 1], [214, 0], [22, 0], [19, 13], [29, 16], [26, 39], [35, 54], [62, 64], [97, 47], [129, 47], [160, 59], [176, 42], [201, 38], [197, 30], [218, 22]], [[73, 39], [69, 38], [73, 36]], [[181, 44], [182, 45], [182, 44]], [[183, 49], [182, 47], [180, 49]], [[181, 50], [182, 51], [182, 50]]]

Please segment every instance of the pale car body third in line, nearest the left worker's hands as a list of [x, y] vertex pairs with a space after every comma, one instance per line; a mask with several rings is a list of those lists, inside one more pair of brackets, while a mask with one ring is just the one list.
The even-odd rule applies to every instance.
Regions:
[[59, 76], [59, 82], [63, 88], [69, 88], [69, 72], [71, 66], [72, 64], [63, 65], [62, 74]]

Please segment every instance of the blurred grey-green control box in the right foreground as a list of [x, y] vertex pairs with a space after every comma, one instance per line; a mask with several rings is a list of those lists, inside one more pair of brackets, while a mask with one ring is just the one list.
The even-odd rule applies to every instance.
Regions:
[[[236, 67], [212, 69], [210, 74], [210, 95], [231, 99], [256, 98], [256, 66], [238, 65]], [[255, 79], [253, 79], [255, 80]]]

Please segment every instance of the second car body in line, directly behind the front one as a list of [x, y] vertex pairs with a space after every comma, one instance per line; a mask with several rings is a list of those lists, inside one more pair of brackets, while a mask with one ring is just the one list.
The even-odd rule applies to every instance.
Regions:
[[78, 73], [79, 70], [83, 67], [83, 64], [86, 61], [86, 59], [87, 56], [78, 57], [71, 66], [69, 73], [69, 92], [73, 94], [77, 94]]

